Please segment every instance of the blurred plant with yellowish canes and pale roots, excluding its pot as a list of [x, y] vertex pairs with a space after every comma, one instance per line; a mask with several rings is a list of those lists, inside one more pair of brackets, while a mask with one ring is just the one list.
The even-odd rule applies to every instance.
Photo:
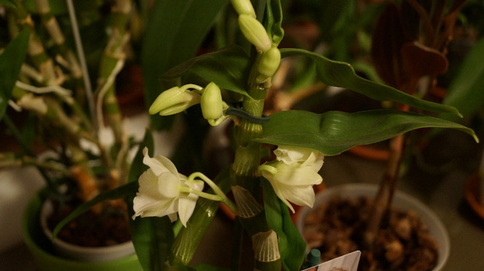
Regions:
[[[128, 59], [133, 3], [0, 4], [0, 43], [5, 48], [0, 117], [20, 146], [18, 152], [2, 152], [2, 166], [36, 165], [50, 191], [64, 199], [88, 201], [126, 183], [133, 144], [122, 128], [115, 78]], [[107, 19], [100, 14], [102, 8]], [[82, 43], [80, 32], [95, 39]], [[106, 142], [106, 134], [112, 135], [112, 143]], [[59, 191], [63, 183], [68, 183], [68, 192]]]

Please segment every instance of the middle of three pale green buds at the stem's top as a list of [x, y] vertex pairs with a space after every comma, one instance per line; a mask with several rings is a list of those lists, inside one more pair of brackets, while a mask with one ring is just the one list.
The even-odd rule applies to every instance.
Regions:
[[272, 42], [266, 32], [266, 28], [254, 17], [241, 14], [239, 16], [239, 27], [245, 39], [248, 39], [257, 50], [266, 52], [272, 47]]

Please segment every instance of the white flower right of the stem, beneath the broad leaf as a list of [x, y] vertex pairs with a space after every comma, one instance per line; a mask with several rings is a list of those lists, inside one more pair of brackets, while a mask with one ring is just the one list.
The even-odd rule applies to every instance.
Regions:
[[279, 146], [276, 160], [259, 166], [259, 172], [270, 182], [277, 197], [295, 212], [290, 202], [313, 207], [313, 185], [322, 183], [318, 174], [324, 155], [308, 148]]

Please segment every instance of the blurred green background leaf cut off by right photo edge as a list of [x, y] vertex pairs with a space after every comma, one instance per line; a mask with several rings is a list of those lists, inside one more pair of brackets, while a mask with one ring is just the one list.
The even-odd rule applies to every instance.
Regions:
[[[476, 43], [465, 57], [458, 74], [450, 83], [443, 103], [454, 106], [464, 116], [484, 108], [484, 39]], [[444, 119], [456, 120], [445, 114]]]

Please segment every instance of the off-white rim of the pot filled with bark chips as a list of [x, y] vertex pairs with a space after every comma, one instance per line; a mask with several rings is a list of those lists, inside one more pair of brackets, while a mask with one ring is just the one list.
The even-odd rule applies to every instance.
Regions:
[[[315, 206], [318, 206], [335, 195], [340, 195], [342, 198], [357, 198], [363, 197], [375, 197], [378, 190], [378, 185], [368, 183], [349, 183], [344, 185], [337, 185], [331, 188], [327, 188], [322, 192], [316, 194]], [[422, 219], [422, 222], [429, 228], [429, 233], [438, 243], [438, 262], [436, 267], [432, 271], [442, 270], [449, 257], [450, 241], [449, 234], [445, 230], [445, 226], [437, 215], [430, 210], [426, 205], [400, 191], [396, 191], [393, 196], [393, 205], [401, 208], [402, 210], [413, 210]], [[304, 232], [304, 219], [310, 212], [311, 208], [301, 208], [299, 216], [297, 217], [297, 228], [301, 234]]]

